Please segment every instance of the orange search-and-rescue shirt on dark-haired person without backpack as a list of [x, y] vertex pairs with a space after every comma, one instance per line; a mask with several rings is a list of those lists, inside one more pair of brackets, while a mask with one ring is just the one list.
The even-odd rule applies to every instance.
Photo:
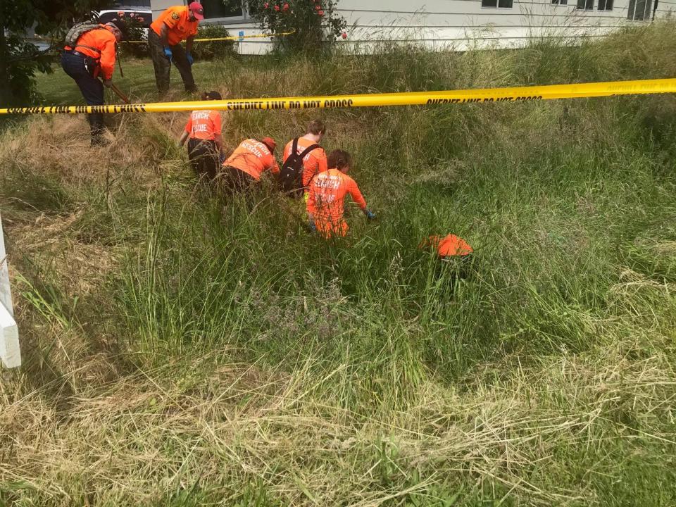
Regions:
[[320, 232], [335, 232], [344, 235], [347, 224], [343, 220], [345, 213], [345, 196], [349, 194], [352, 200], [366, 210], [366, 201], [361, 195], [356, 182], [348, 175], [337, 169], [329, 169], [316, 175], [310, 183], [307, 210], [315, 220], [315, 226]]

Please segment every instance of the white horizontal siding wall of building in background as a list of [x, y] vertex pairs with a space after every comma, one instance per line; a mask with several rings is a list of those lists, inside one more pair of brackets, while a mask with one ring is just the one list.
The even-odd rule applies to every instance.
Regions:
[[[175, 4], [176, 0], [152, 0], [154, 16]], [[431, 49], [515, 47], [536, 37], [599, 37], [618, 26], [647, 22], [627, 20], [630, 0], [615, 0], [612, 11], [599, 11], [598, 6], [599, 0], [594, 0], [594, 9], [589, 11], [578, 10], [577, 0], [568, 0], [568, 5], [514, 0], [511, 8], [482, 7], [481, 0], [340, 0], [338, 11], [349, 25], [346, 44], [367, 47], [386, 40], [414, 41]], [[676, 11], [676, 0], [658, 1], [658, 17], [672, 11]], [[260, 32], [246, 13], [241, 18], [206, 23], [223, 23], [234, 36], [240, 31], [245, 35]], [[261, 54], [269, 49], [269, 42], [245, 39], [239, 42], [239, 52]]]

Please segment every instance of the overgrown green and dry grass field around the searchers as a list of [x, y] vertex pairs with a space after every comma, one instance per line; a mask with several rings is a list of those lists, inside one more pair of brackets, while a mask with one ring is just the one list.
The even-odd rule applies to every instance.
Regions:
[[[232, 97], [674, 77], [675, 29], [195, 70]], [[675, 96], [224, 115], [231, 148], [320, 116], [351, 151], [378, 219], [329, 243], [270, 185], [196, 189], [186, 116], [1, 134], [0, 505], [676, 505]], [[466, 280], [418, 248], [447, 232]]]

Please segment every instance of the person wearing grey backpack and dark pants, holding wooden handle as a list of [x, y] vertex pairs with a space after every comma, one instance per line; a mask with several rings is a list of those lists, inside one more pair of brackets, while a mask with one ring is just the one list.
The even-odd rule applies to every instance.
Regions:
[[[123, 32], [120, 30], [123, 27], [124, 25], [113, 20], [84, 32], [77, 38], [75, 46], [63, 48], [61, 67], [66, 74], [73, 77], [89, 106], [104, 105], [104, 86], [110, 87], [112, 83], [116, 46], [123, 39]], [[89, 113], [87, 118], [92, 132], [92, 146], [105, 144], [102, 136], [104, 115]]]

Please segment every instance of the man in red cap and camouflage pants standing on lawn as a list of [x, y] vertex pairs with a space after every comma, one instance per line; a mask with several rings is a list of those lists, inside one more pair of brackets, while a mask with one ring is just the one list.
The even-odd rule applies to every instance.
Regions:
[[[204, 8], [199, 2], [188, 6], [173, 6], [166, 9], [153, 21], [148, 30], [148, 47], [155, 68], [155, 81], [160, 98], [169, 91], [171, 63], [181, 74], [186, 92], [196, 92], [192, 77], [192, 41], [197, 26], [204, 19]], [[181, 42], [185, 41], [185, 49]]]

